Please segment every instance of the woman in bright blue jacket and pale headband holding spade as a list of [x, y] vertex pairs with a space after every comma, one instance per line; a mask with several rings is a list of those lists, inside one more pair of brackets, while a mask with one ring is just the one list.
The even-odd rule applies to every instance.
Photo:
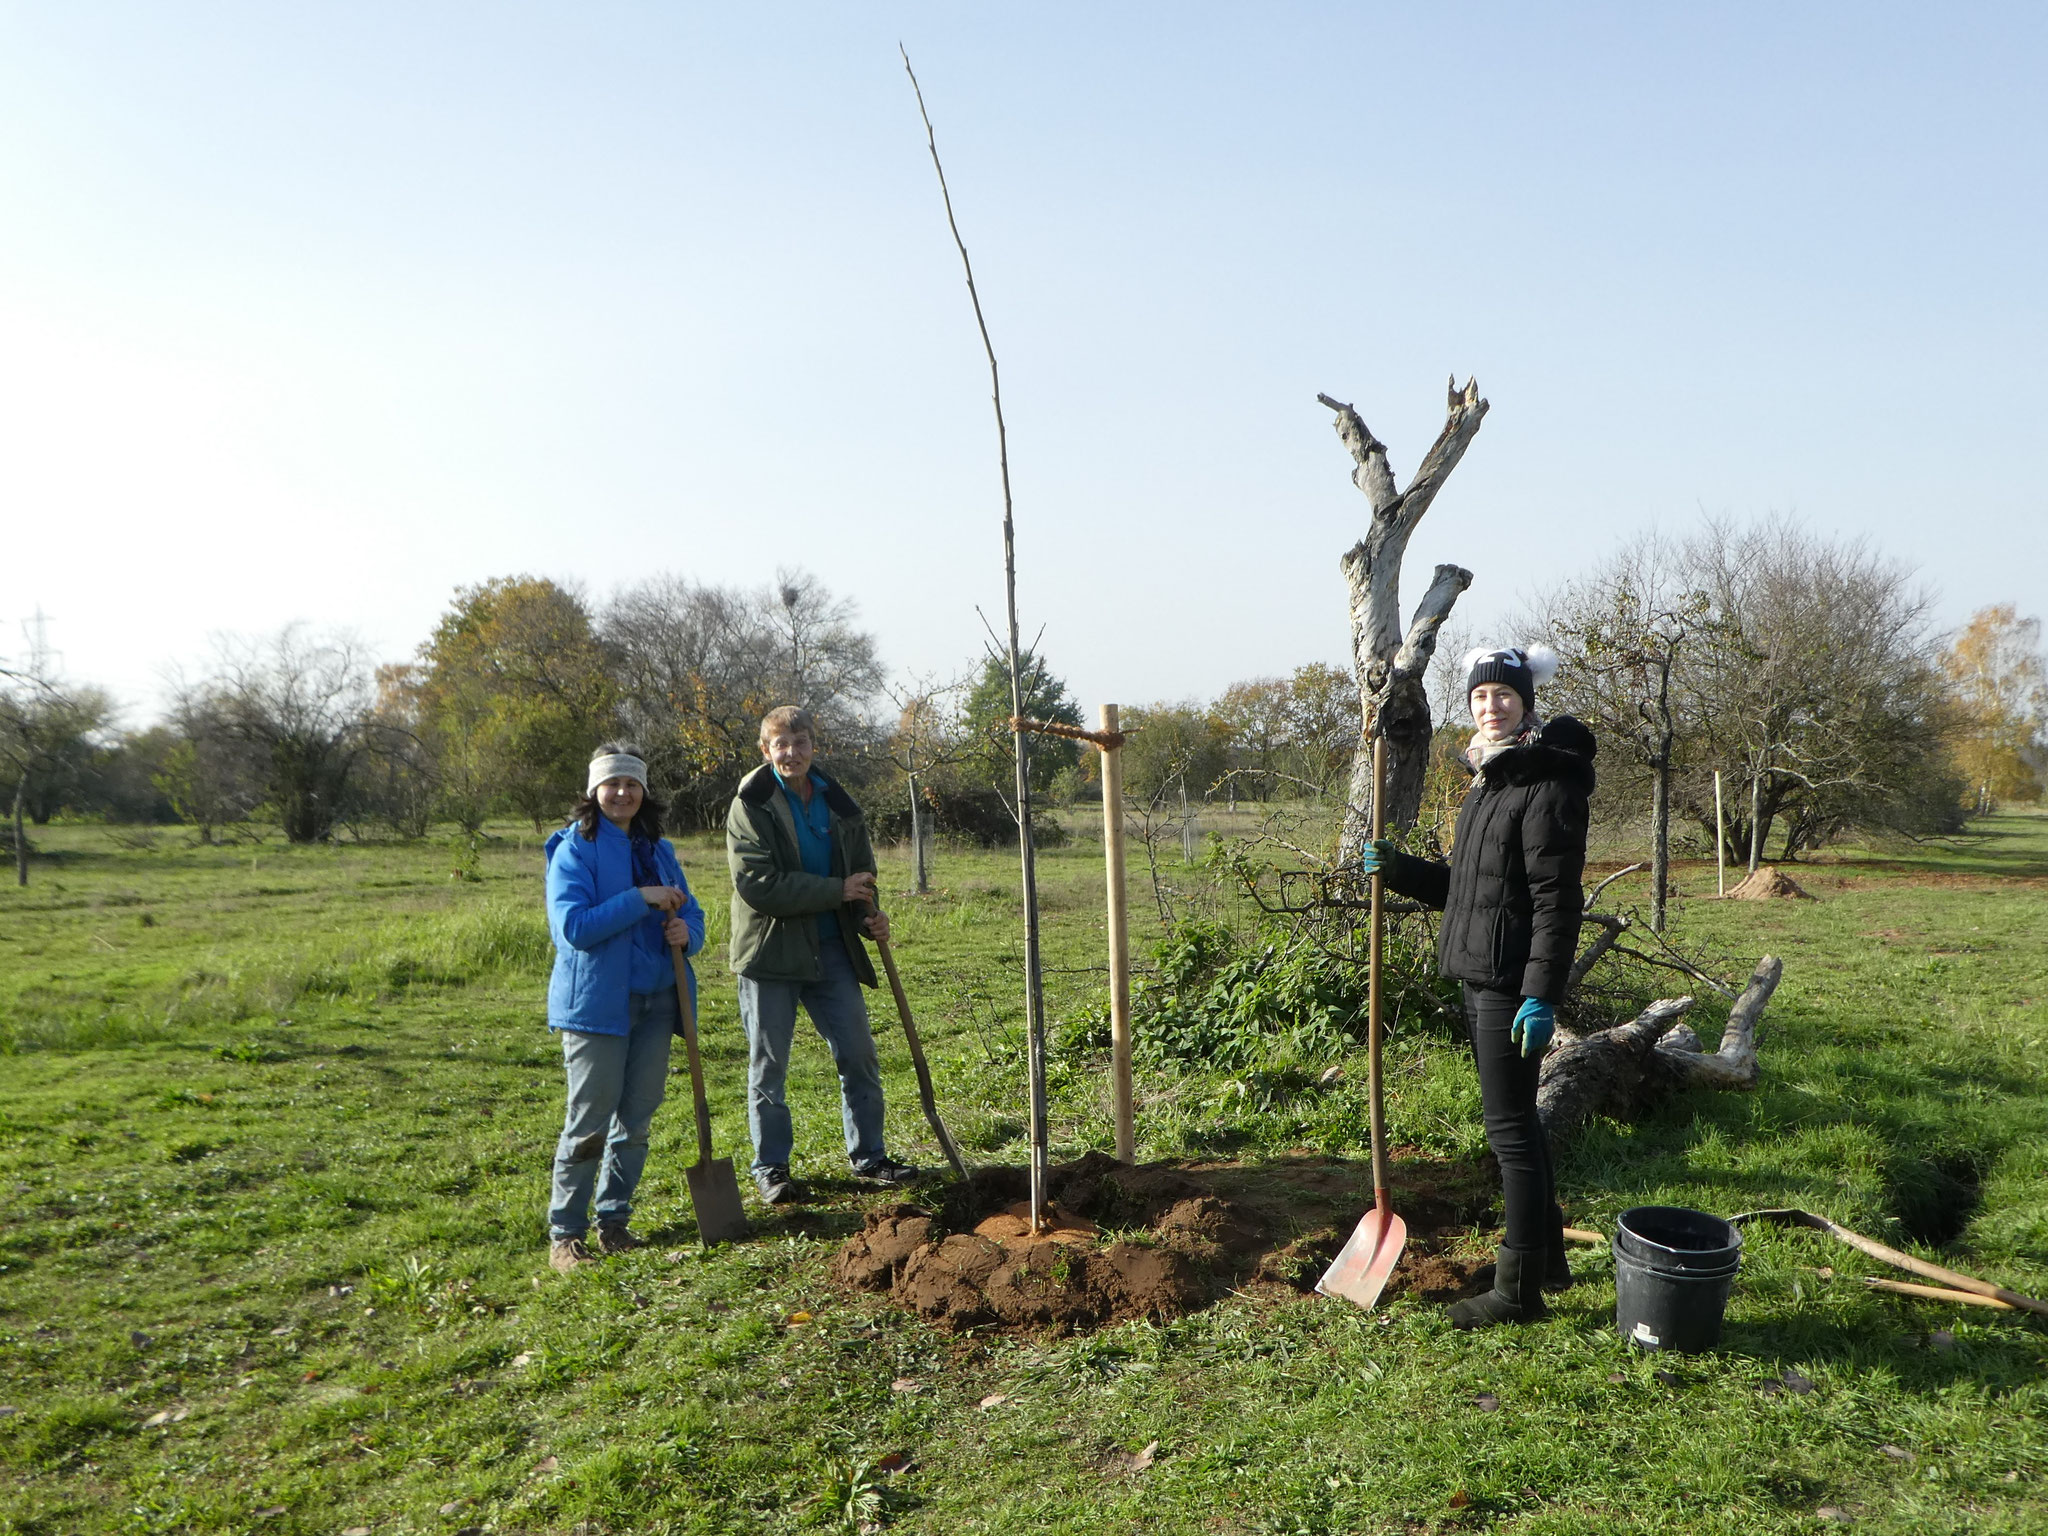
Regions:
[[[592, 1190], [598, 1253], [641, 1247], [627, 1219], [682, 1018], [668, 948], [705, 948], [705, 909], [662, 838], [664, 809], [647, 793], [639, 748], [608, 741], [590, 760], [569, 825], [547, 840], [547, 928], [555, 938], [547, 1026], [561, 1032], [569, 1075], [547, 1210], [549, 1264], [561, 1272], [594, 1262], [584, 1243]], [[696, 975], [684, 971], [694, 1008]]]

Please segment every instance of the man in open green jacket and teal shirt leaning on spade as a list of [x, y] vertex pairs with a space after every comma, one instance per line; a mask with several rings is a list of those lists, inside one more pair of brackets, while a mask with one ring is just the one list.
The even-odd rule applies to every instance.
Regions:
[[731, 967], [748, 1030], [748, 1130], [754, 1186], [768, 1204], [803, 1198], [788, 1174], [795, 1128], [784, 1100], [799, 1004], [840, 1069], [854, 1174], [885, 1186], [918, 1178], [883, 1149], [883, 1075], [860, 995], [874, 985], [860, 934], [889, 938], [889, 918], [872, 905], [874, 846], [860, 807], [811, 766], [815, 741], [809, 711], [768, 711], [760, 739], [766, 762], [739, 780], [725, 813]]

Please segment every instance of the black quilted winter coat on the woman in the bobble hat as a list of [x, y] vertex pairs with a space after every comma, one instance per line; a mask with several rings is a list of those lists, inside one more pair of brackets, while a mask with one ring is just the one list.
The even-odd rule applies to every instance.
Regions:
[[1593, 733], [1559, 715], [1475, 776], [1450, 864], [1397, 854], [1389, 889], [1444, 911], [1438, 971], [1556, 1001], [1579, 950]]

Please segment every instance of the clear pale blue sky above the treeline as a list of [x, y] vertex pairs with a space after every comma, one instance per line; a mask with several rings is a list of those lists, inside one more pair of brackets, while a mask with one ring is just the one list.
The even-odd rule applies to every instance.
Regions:
[[2048, 610], [2040, 6], [0, 4], [0, 649], [131, 719], [219, 629], [803, 563], [1090, 705], [1346, 653], [1405, 475], [1468, 627], [1790, 512]]

